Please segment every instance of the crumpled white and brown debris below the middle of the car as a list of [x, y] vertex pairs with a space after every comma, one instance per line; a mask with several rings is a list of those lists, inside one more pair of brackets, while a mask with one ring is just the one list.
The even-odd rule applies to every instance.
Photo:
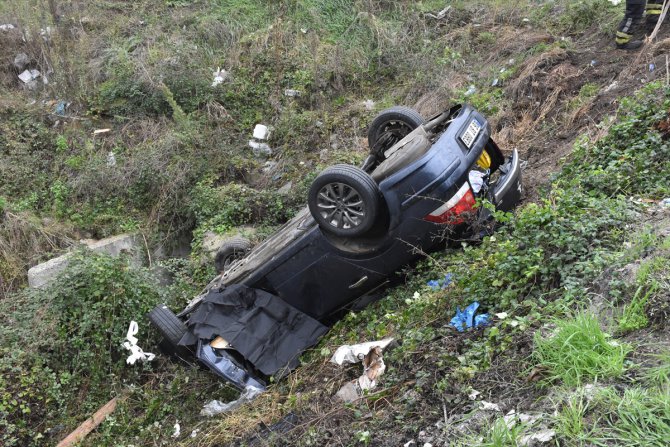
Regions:
[[344, 402], [353, 402], [363, 395], [363, 391], [377, 386], [377, 379], [386, 370], [382, 350], [392, 341], [393, 338], [385, 338], [379, 341], [351, 346], [344, 345], [337, 348], [330, 361], [338, 365], [361, 361], [363, 363], [363, 374], [358, 379], [344, 384], [335, 394], [335, 397]]

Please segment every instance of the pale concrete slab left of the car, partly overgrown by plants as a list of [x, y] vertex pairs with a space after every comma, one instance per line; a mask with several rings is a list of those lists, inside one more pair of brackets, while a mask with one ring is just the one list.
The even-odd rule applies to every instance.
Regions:
[[[110, 256], [119, 256], [121, 253], [131, 253], [134, 265], [141, 265], [139, 255], [140, 240], [135, 234], [120, 234], [99, 241], [84, 241], [88, 249], [96, 253], [107, 253]], [[42, 264], [31, 267], [28, 270], [28, 286], [41, 288], [47, 286], [65, 270], [72, 253], [66, 253], [57, 258], [50, 259]]]

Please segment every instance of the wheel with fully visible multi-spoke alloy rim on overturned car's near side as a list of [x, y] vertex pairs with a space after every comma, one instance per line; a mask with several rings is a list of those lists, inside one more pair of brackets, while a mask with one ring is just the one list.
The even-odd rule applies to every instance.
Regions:
[[368, 173], [341, 164], [319, 174], [309, 189], [307, 203], [324, 231], [336, 236], [361, 236], [377, 219], [380, 195]]

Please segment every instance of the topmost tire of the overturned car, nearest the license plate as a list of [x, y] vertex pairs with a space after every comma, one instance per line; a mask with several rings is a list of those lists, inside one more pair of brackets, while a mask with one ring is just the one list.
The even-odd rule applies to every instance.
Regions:
[[370, 152], [379, 157], [425, 122], [419, 112], [409, 107], [395, 106], [381, 111], [368, 128]]

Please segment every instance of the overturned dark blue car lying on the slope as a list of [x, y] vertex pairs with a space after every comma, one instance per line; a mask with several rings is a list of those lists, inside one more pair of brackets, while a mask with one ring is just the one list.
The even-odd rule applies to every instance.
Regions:
[[505, 158], [486, 119], [468, 105], [425, 120], [381, 112], [361, 168], [335, 165], [313, 182], [308, 206], [257, 247], [235, 238], [221, 272], [188, 306], [149, 314], [164, 349], [194, 355], [234, 386], [263, 388], [297, 366], [348, 309], [370, 302], [402, 266], [477, 237], [521, 198], [514, 150]]

